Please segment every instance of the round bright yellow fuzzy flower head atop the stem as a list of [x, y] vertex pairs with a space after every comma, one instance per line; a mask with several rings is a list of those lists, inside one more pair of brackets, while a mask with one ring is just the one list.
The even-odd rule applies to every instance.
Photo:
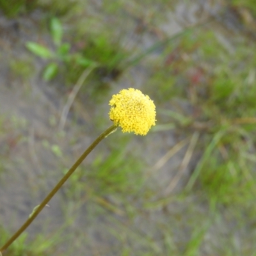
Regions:
[[151, 126], [156, 125], [156, 106], [148, 95], [129, 88], [113, 95], [109, 102], [109, 117], [122, 132], [146, 135]]

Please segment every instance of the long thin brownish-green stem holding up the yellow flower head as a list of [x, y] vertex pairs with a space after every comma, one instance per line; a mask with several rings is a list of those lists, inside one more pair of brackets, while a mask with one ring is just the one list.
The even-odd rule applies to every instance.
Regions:
[[79, 159], [77, 159], [76, 163], [73, 164], [73, 166], [63, 176], [63, 178], [58, 182], [58, 184], [56, 184], [56, 186], [52, 189], [52, 191], [49, 193], [49, 195], [47, 195], [44, 198], [42, 203], [40, 205], [38, 205], [37, 207], [35, 207], [32, 214], [29, 215], [28, 220], [26, 220], [26, 222], [19, 228], [19, 230], [17, 230], [17, 232], [15, 232], [15, 234], [13, 234], [13, 236], [4, 244], [4, 246], [0, 249], [0, 255], [2, 252], [4, 252], [4, 250], [6, 250], [13, 243], [13, 241], [15, 241], [17, 239], [17, 237], [20, 236], [20, 234], [22, 234], [22, 232], [24, 230], [26, 230], [26, 228], [29, 227], [31, 222], [33, 220], [35, 220], [36, 216], [38, 216], [38, 214], [42, 211], [42, 209], [44, 209], [45, 205], [51, 200], [51, 198], [56, 194], [56, 192], [61, 188], [61, 186], [70, 177], [70, 175], [72, 175], [72, 173], [74, 173], [76, 168], [83, 162], [85, 157], [88, 156], [88, 154], [90, 154], [90, 152], [92, 152], [93, 148], [95, 148], [100, 143], [100, 141], [102, 141], [104, 138], [106, 138], [106, 136], [111, 134], [111, 132], [115, 131], [115, 129], [116, 129], [116, 126], [112, 125], [108, 129], [106, 129], [106, 131], [102, 132], [102, 134], [100, 134], [100, 136], [95, 141], [93, 141], [93, 143], [90, 145], [90, 147], [88, 147], [83, 152], [83, 154], [79, 157]]

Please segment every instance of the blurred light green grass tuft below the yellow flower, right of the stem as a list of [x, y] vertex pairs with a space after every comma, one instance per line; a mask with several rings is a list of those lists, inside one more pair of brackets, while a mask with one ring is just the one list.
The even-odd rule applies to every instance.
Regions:
[[127, 162], [127, 155], [126, 150], [111, 150], [107, 157], [96, 156], [92, 166], [85, 170], [78, 168], [68, 180], [69, 186], [65, 190], [68, 198], [79, 200], [84, 190], [96, 196], [136, 195], [143, 184], [142, 163], [132, 155], [129, 156], [131, 161]]

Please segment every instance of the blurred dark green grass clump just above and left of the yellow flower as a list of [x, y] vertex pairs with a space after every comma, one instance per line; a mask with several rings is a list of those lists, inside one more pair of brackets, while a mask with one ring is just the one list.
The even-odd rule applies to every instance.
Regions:
[[92, 85], [90, 88], [86, 88], [86, 93], [97, 97], [97, 92], [101, 94], [108, 90], [109, 81], [115, 80], [122, 74], [127, 52], [118, 45], [118, 42], [113, 42], [113, 38], [104, 34], [87, 35], [82, 40], [84, 40], [84, 47], [77, 53], [77, 56], [79, 54], [81, 58], [67, 63], [66, 77], [69, 84], [74, 84], [77, 77], [83, 73], [84, 67], [94, 65], [96, 68], [88, 77], [88, 83]]

